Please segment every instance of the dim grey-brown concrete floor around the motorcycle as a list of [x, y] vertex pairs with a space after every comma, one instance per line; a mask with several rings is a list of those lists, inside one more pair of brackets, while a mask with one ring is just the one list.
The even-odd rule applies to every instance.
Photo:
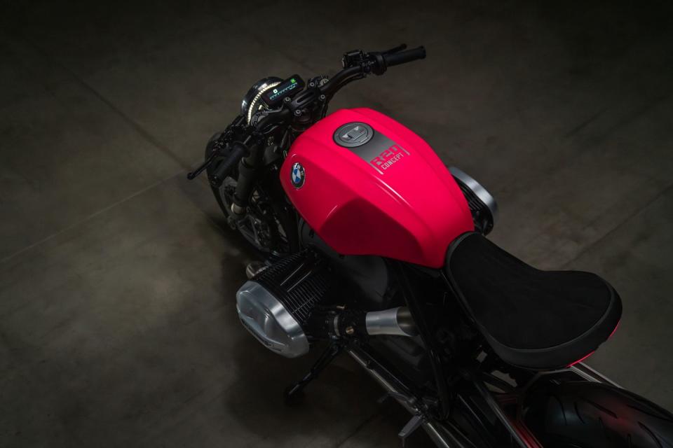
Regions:
[[622, 325], [589, 363], [673, 409], [669, 12], [330, 4], [6, 5], [1, 447], [397, 446], [405, 414], [345, 358], [283, 406], [316, 353], [279, 358], [240, 327], [252, 253], [184, 173], [255, 80], [402, 41], [428, 59], [334, 109], [388, 113], [482, 181], [512, 253], [611, 281]]

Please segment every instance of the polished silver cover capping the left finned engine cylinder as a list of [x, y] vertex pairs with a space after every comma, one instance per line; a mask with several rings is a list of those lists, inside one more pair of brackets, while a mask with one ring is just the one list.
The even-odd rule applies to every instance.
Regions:
[[286, 358], [308, 353], [308, 339], [301, 325], [264, 286], [246, 281], [236, 293], [240, 322], [269, 350]]

